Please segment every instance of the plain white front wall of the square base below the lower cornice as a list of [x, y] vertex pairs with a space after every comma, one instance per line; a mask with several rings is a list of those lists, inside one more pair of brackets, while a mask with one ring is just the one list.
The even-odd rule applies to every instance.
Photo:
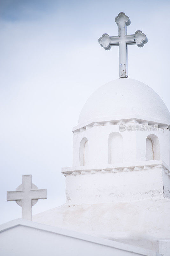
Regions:
[[162, 168], [66, 176], [66, 204], [126, 202], [163, 196]]

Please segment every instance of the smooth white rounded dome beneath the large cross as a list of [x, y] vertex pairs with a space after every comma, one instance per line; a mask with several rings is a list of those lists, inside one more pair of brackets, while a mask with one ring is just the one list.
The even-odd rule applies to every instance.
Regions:
[[101, 86], [89, 97], [78, 126], [129, 118], [170, 124], [170, 113], [155, 91], [137, 80], [121, 78]]

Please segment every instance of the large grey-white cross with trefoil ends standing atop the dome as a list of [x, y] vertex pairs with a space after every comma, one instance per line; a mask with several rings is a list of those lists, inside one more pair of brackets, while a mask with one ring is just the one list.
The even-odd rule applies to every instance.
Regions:
[[119, 35], [103, 34], [98, 42], [105, 50], [110, 50], [111, 46], [119, 46], [119, 76], [120, 78], [128, 78], [127, 45], [137, 44], [138, 47], [142, 47], [148, 39], [140, 30], [137, 30], [134, 35], [127, 35], [127, 26], [131, 24], [131, 21], [124, 12], [118, 14], [115, 22], [119, 28]]

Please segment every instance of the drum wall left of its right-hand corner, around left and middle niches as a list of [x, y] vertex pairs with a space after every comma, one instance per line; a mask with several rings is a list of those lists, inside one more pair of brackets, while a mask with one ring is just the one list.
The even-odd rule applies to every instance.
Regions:
[[[89, 130], [73, 135], [73, 166], [79, 166], [79, 147], [83, 137], [89, 143], [89, 164], [108, 164], [109, 134], [119, 132], [119, 125], [94, 126]], [[122, 132], [124, 162], [136, 160], [135, 132]], [[128, 135], [128, 136], [127, 136]]]

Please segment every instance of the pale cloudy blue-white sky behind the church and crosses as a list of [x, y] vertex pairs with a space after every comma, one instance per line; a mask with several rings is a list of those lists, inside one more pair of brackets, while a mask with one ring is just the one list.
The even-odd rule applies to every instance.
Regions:
[[21, 217], [6, 201], [22, 174], [32, 174], [48, 199], [33, 214], [65, 202], [61, 167], [72, 166], [72, 127], [99, 86], [117, 79], [118, 47], [98, 38], [118, 35], [119, 12], [148, 43], [128, 47], [129, 77], [148, 84], [170, 109], [170, 1], [1, 0], [0, 2], [0, 223]]

